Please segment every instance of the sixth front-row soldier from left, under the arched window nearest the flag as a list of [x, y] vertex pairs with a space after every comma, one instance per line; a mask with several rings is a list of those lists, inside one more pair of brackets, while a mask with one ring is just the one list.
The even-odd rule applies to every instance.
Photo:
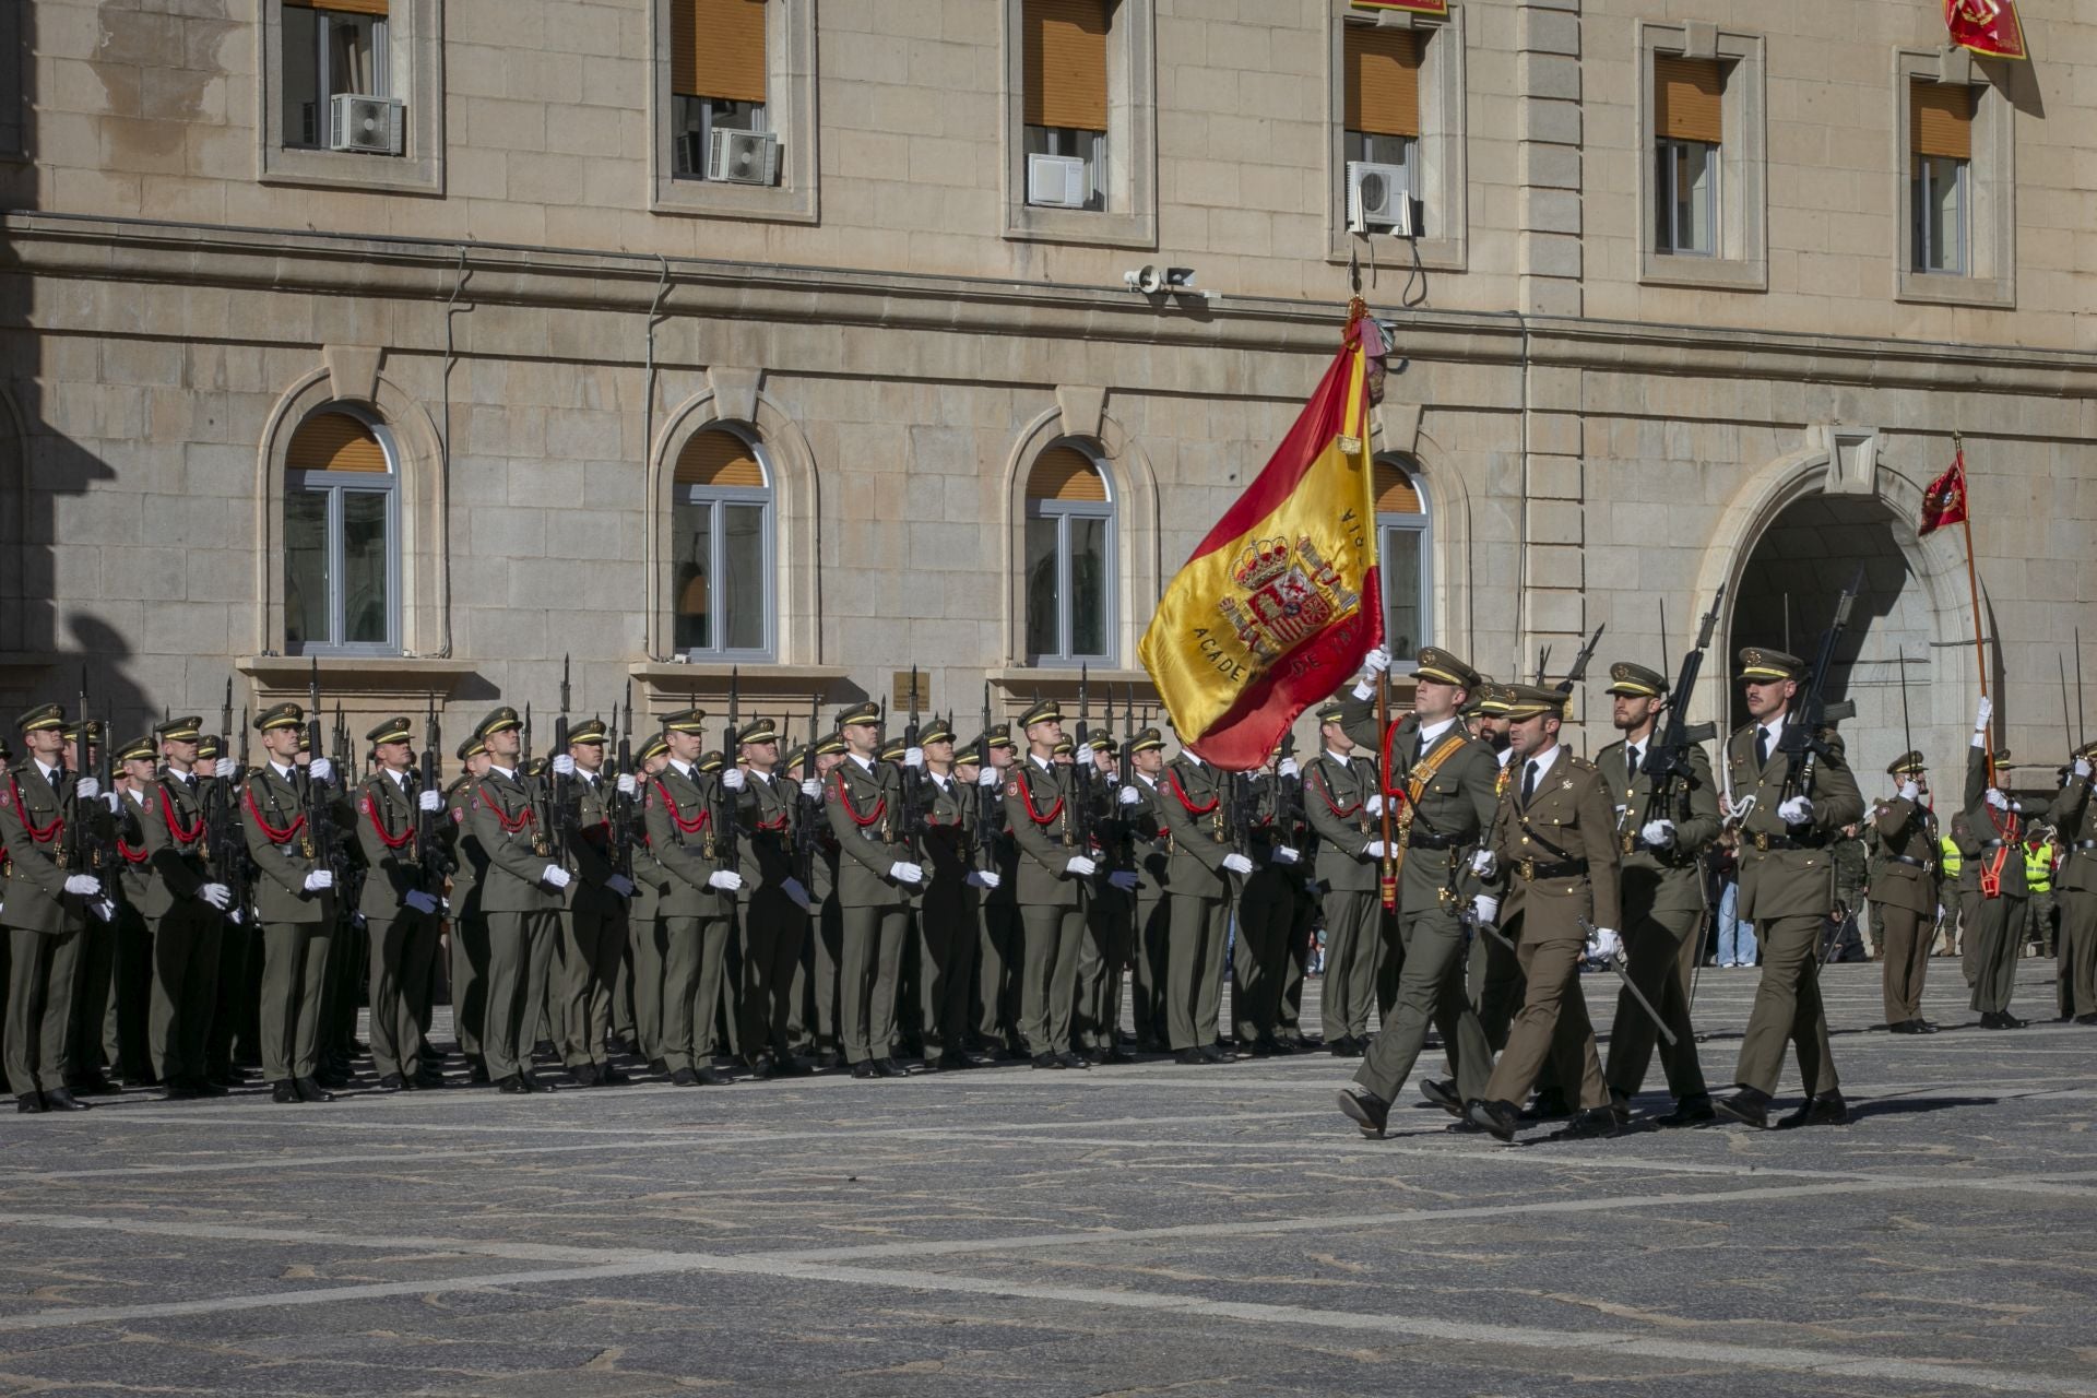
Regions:
[[[1082, 778], [1055, 761], [1063, 713], [1040, 700], [1019, 715], [1028, 755], [1004, 780], [1004, 824], [1019, 840], [1019, 1033], [1038, 1069], [1086, 1067], [1072, 1052], [1078, 1008], [1078, 947], [1099, 866], [1078, 847], [1074, 807]], [[1218, 945], [1220, 954], [1220, 945]], [[1214, 1006], [1210, 1008], [1214, 1014]]]

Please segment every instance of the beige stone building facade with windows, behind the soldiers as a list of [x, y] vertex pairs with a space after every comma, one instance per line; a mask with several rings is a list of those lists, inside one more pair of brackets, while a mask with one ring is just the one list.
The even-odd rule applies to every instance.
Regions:
[[[983, 681], [1072, 694], [1080, 652], [1145, 698], [1151, 604], [1359, 279], [1407, 356], [1376, 444], [1413, 639], [1506, 677], [1606, 625], [1604, 662], [1673, 669], [1726, 585], [1724, 641], [1810, 652], [1862, 564], [1852, 750], [1900, 750], [1906, 673], [1952, 763], [1973, 606], [1915, 518], [1963, 434], [2005, 740], [2019, 784], [2059, 761], [2057, 650], [2097, 633], [2097, 23], [2063, 0], [2022, 6], [2032, 63], [1948, 50], [1936, 0], [338, 6], [0, 21], [0, 700], [84, 660], [132, 729], [317, 658], [359, 731], [434, 696], [455, 734], [572, 656], [585, 713], [717, 708], [734, 669], [801, 729], [916, 664], [973, 729]], [[315, 149], [315, 19], [398, 155]], [[690, 178], [751, 126], [684, 92], [738, 23], [765, 184]], [[1059, 63], [1099, 90], [1053, 119], [1107, 130], [1046, 174], [1097, 207], [1032, 197]], [[1411, 130], [1361, 143], [1392, 63]], [[1357, 151], [1418, 237], [1350, 228]], [[312, 457], [317, 413], [377, 467]], [[350, 574], [375, 610], [331, 646]], [[1579, 717], [1606, 740], [1600, 685]]]

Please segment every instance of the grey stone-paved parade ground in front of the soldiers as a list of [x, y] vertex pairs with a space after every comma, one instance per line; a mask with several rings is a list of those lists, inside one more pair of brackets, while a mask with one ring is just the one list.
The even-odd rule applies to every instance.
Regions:
[[1323, 1054], [10, 1115], [0, 1392], [2097, 1394], [2097, 1031], [1826, 983], [1841, 1130], [1363, 1140]]

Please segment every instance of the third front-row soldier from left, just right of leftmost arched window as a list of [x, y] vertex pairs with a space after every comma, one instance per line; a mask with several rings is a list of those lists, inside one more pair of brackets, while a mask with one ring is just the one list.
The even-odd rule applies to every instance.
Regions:
[[533, 788], [518, 771], [522, 721], [507, 704], [491, 711], [474, 736], [489, 767], [474, 778], [466, 832], [487, 853], [476, 880], [489, 929], [489, 998], [480, 1054], [503, 1092], [552, 1092], [533, 1073], [533, 1033], [545, 1000], [558, 937], [560, 893], [575, 874], [556, 859], [552, 834], [539, 830]]

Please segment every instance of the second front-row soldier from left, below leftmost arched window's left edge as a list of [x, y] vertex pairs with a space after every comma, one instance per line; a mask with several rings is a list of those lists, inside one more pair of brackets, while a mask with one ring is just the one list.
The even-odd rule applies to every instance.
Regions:
[[[336, 933], [336, 874], [308, 824], [312, 803], [331, 801], [333, 763], [300, 765], [306, 711], [285, 702], [256, 715], [266, 761], [247, 773], [241, 809], [262, 926], [262, 1073], [277, 1102], [331, 1102], [315, 1082], [321, 1065], [321, 1000]], [[319, 786], [321, 790], [312, 790]]]

